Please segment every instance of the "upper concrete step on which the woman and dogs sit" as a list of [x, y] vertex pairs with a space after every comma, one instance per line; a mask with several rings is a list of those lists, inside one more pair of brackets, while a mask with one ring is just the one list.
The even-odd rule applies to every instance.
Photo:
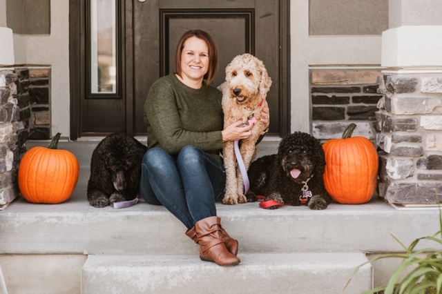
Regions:
[[[0, 253], [8, 254], [191, 254], [185, 227], [162, 206], [139, 203], [122, 209], [94, 208], [86, 197], [88, 169], [62, 204], [16, 199], [0, 211]], [[217, 204], [222, 224], [242, 253], [401, 251], [403, 244], [439, 231], [439, 210], [396, 210], [375, 197], [363, 205], [330, 204], [260, 208], [257, 202]], [[180, 244], [180, 246], [176, 246]], [[425, 247], [425, 242], [420, 243]]]

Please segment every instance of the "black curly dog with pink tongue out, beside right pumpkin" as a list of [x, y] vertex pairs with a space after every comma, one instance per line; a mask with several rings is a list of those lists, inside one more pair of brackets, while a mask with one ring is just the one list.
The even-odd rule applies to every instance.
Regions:
[[247, 201], [265, 195], [265, 200], [281, 204], [298, 206], [305, 200], [311, 209], [325, 209], [332, 199], [325, 190], [324, 170], [325, 155], [320, 141], [307, 133], [295, 132], [280, 141], [278, 154], [251, 163], [247, 172], [250, 181]]

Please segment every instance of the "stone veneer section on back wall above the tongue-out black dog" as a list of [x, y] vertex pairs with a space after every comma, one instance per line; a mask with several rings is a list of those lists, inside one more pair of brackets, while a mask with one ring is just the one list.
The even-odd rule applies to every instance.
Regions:
[[311, 132], [325, 141], [342, 137], [350, 123], [354, 136], [376, 139], [378, 67], [311, 68]]

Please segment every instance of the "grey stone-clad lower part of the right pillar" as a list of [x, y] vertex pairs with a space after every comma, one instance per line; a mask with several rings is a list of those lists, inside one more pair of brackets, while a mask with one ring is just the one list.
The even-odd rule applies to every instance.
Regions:
[[442, 71], [388, 71], [378, 84], [379, 194], [398, 204], [442, 201]]

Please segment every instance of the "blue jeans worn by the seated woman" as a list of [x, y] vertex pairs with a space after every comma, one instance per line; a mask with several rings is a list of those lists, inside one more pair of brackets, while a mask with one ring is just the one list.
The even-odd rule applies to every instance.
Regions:
[[216, 215], [215, 200], [224, 191], [224, 166], [194, 147], [172, 156], [162, 148], [144, 155], [140, 193], [149, 204], [163, 205], [186, 226]]

